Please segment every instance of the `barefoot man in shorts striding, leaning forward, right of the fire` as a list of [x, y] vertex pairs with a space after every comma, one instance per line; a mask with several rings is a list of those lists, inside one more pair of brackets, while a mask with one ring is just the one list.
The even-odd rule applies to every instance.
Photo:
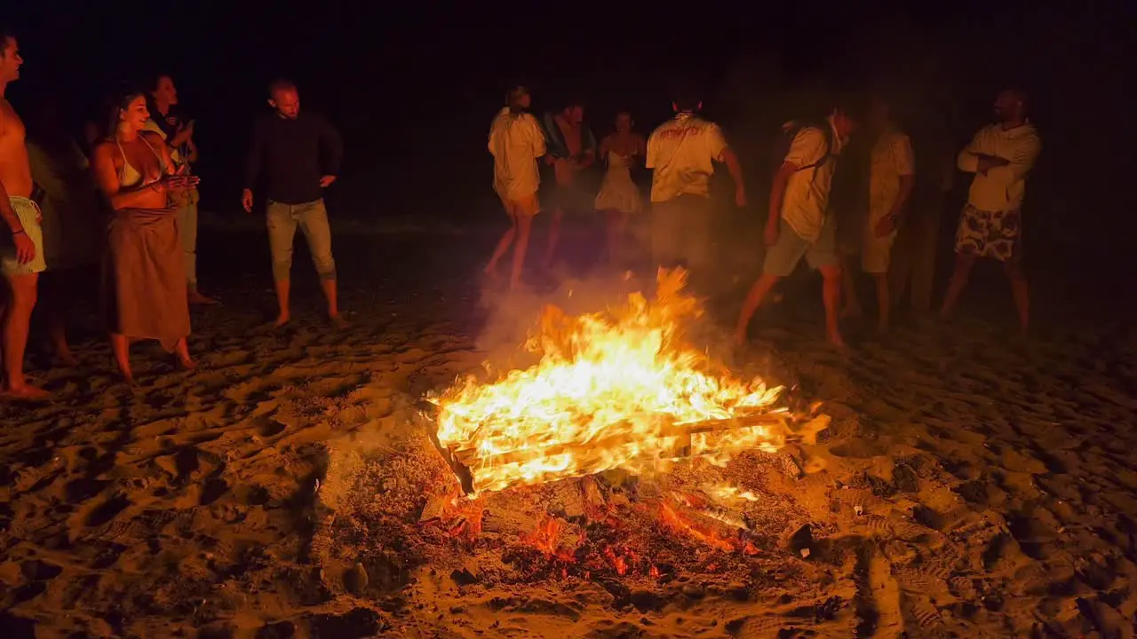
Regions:
[[[822, 128], [827, 126], [828, 133]], [[766, 257], [762, 275], [742, 302], [735, 330], [736, 345], [746, 341], [746, 329], [762, 300], [779, 280], [794, 272], [804, 257], [812, 268], [821, 271], [824, 280], [822, 301], [825, 305], [829, 341], [838, 347], [845, 346], [837, 325], [841, 266], [837, 256], [835, 221], [828, 208], [837, 158], [855, 128], [856, 123], [846, 110], [836, 108], [823, 123], [800, 126], [794, 134], [770, 189]]]

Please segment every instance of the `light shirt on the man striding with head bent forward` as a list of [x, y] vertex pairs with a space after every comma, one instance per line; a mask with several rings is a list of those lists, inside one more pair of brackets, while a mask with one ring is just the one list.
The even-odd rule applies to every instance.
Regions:
[[816, 242], [821, 238], [821, 227], [825, 224], [825, 211], [829, 208], [829, 191], [833, 185], [833, 172], [837, 171], [837, 156], [845, 147], [845, 141], [837, 135], [831, 119], [829, 126], [832, 148], [828, 151], [832, 157], [821, 166], [815, 165], [825, 156], [825, 134], [815, 126], [797, 132], [783, 161], [797, 167], [810, 167], [789, 176], [782, 196], [782, 219], [807, 242]]

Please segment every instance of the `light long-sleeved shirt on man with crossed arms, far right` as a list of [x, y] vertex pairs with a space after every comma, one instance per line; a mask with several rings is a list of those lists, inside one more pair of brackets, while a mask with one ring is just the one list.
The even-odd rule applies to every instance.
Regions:
[[[1015, 210], [1021, 207], [1027, 192], [1027, 174], [1035, 166], [1041, 149], [1043, 141], [1030, 123], [1007, 130], [998, 124], [980, 128], [956, 159], [960, 171], [976, 174], [968, 202], [980, 210]], [[979, 173], [980, 155], [1001, 157], [1010, 164], [994, 166], [984, 175]]]

